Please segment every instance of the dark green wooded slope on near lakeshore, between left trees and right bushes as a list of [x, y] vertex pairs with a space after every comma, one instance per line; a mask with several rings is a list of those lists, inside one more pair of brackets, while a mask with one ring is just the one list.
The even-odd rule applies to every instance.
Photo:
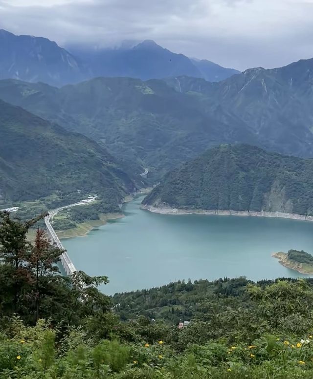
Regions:
[[[196, 280], [178, 281], [159, 288], [115, 294], [112, 298], [115, 312], [123, 319], [136, 319], [142, 327], [145, 320], [167, 320], [178, 324], [206, 314], [215, 314], [229, 306], [249, 305], [246, 278], [219, 279], [215, 282]], [[143, 316], [146, 316], [143, 317]], [[161, 326], [160, 329], [164, 328]], [[164, 328], [165, 330], [166, 328]]]

